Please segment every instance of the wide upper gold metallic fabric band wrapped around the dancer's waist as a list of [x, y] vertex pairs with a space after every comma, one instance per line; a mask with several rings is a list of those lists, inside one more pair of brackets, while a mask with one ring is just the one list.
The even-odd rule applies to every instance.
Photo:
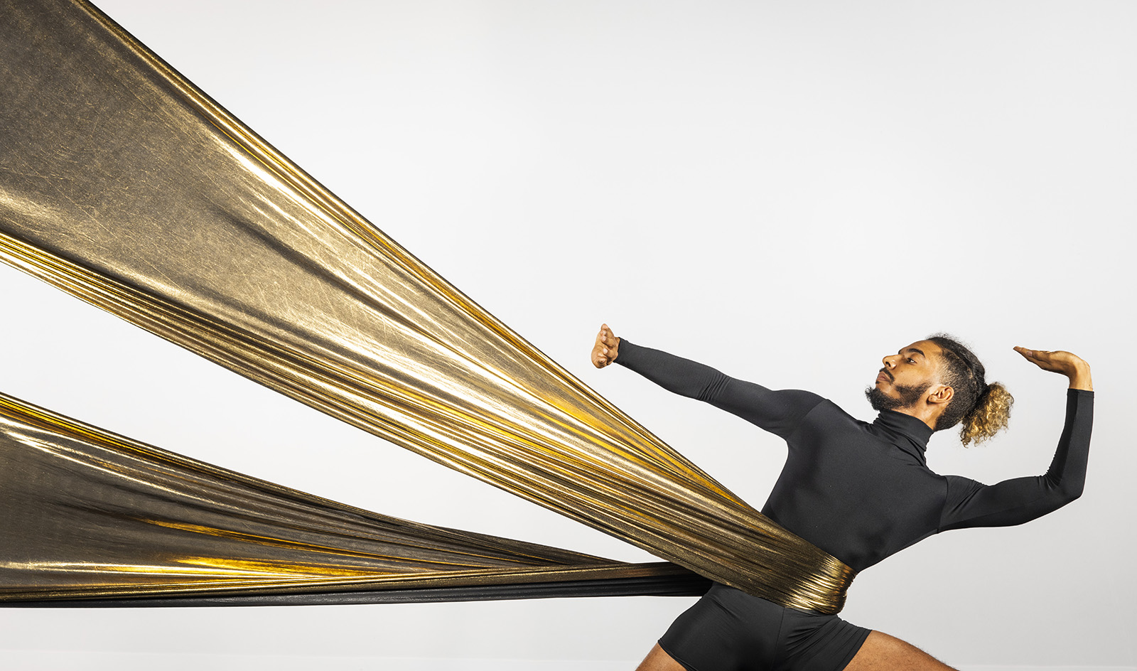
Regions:
[[97, 9], [0, 7], [5, 260], [713, 580], [840, 608], [848, 566], [481, 309]]

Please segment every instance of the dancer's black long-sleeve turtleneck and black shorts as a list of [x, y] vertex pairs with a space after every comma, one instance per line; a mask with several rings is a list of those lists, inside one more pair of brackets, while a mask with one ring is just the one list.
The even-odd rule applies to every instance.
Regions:
[[[774, 391], [621, 339], [620, 363], [783, 438], [789, 455], [762, 513], [856, 571], [932, 533], [1021, 524], [1081, 494], [1094, 392], [1068, 392], [1065, 428], [1045, 475], [986, 486], [928, 469], [932, 430], [885, 411], [871, 424], [810, 391]], [[691, 671], [839, 670], [869, 630], [716, 585], [659, 645]]]

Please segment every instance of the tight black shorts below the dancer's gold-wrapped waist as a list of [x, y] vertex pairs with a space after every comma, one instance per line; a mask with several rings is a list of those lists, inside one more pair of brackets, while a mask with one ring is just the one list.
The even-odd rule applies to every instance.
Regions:
[[671, 624], [659, 647], [688, 671], [839, 671], [869, 631], [716, 583]]

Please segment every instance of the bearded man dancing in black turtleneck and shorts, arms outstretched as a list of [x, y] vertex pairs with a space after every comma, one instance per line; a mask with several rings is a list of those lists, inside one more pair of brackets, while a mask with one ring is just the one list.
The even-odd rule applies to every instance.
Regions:
[[[733, 413], [783, 438], [786, 465], [762, 513], [855, 571], [940, 531], [1021, 524], [1081, 495], [1094, 392], [1089, 365], [1069, 351], [1015, 347], [1065, 375], [1065, 428], [1049, 470], [986, 486], [928, 469], [933, 431], [963, 424], [964, 445], [1006, 428], [1013, 398], [988, 384], [962, 343], [933, 336], [883, 357], [865, 390], [870, 423], [810, 391], [774, 391], [616, 338], [600, 326], [592, 364], [619, 363], [664, 389]], [[927, 653], [837, 615], [787, 608], [714, 585], [652, 648], [639, 671], [945, 670]]]

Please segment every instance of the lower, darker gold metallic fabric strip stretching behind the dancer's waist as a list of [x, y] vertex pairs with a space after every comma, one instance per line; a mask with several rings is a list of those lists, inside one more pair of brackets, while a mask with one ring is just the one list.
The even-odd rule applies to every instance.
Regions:
[[[692, 594], [626, 564], [397, 520], [255, 480], [0, 395], [0, 600], [262, 603]], [[572, 582], [573, 589], [565, 589]], [[704, 585], [705, 589], [706, 586]], [[408, 596], [408, 595], [413, 595]], [[256, 602], [254, 602], [256, 603]]]

